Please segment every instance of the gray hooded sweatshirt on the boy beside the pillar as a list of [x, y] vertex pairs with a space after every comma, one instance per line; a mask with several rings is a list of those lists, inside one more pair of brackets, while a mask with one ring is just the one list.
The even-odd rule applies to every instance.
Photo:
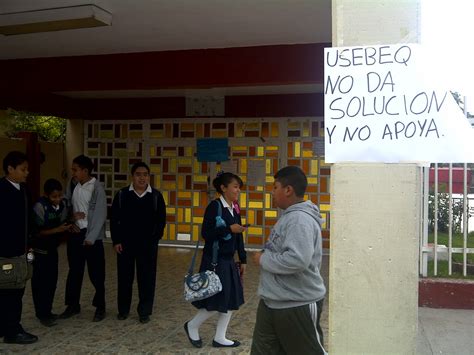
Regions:
[[272, 229], [260, 258], [258, 294], [269, 308], [292, 308], [324, 298], [318, 207], [311, 201], [288, 207]]

